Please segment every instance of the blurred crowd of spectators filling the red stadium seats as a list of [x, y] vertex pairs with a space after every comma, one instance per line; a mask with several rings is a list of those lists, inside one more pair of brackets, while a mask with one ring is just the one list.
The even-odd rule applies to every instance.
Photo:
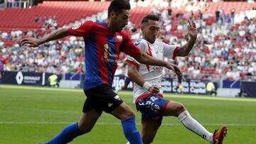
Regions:
[[[203, 6], [203, 4], [196, 6], [201, 5]], [[183, 74], [188, 74], [191, 78], [206, 78], [205, 76], [210, 74], [218, 79], [240, 79], [246, 75], [256, 75], [256, 18], [245, 17], [242, 22], [234, 23], [233, 13], [224, 13], [221, 9], [216, 12], [218, 13], [216, 16], [201, 11], [195, 14], [193, 11], [171, 13], [170, 9], [152, 9], [151, 12], [161, 16], [159, 40], [178, 46], [187, 41], [187, 19], [196, 21], [199, 32], [196, 46], [188, 57], [178, 57], [173, 61], [181, 68]], [[106, 13], [99, 13], [99, 16], [91, 19], [96, 21], [106, 17], [105, 15]], [[70, 36], [41, 45], [38, 49], [20, 45], [21, 38], [32, 35], [40, 38], [58, 28], [55, 16], [36, 17], [35, 23], [43, 23], [43, 27], [33, 31], [18, 29], [11, 32], [0, 31], [0, 48], [3, 56], [8, 60], [5, 70], [83, 72], [85, 50], [82, 49], [84, 46], [82, 38]], [[141, 38], [141, 31], [132, 23], [129, 23], [126, 29], [131, 34], [132, 40]], [[120, 67], [117, 72], [123, 73], [121, 65], [125, 55], [120, 56]], [[170, 77], [171, 72], [166, 70], [165, 74], [166, 77]]]

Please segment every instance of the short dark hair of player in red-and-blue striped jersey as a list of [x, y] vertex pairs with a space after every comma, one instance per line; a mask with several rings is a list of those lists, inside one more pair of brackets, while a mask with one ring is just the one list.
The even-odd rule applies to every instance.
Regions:
[[123, 9], [128, 9], [128, 10], [131, 9], [129, 0], [112, 0], [107, 10], [107, 17], [110, 18], [110, 13], [112, 11], [114, 11], [118, 15], [119, 13], [122, 12]]

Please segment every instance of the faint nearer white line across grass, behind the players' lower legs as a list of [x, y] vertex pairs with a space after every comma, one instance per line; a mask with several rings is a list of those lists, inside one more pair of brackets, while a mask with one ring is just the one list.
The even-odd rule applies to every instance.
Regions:
[[[74, 122], [43, 122], [43, 121], [31, 121], [31, 122], [25, 122], [25, 121], [0, 121], [0, 124], [71, 124]], [[99, 122], [96, 123], [96, 125], [121, 125], [121, 123], [104, 123]], [[141, 123], [136, 123], [136, 125], [141, 125]], [[179, 126], [181, 123], [162, 123], [162, 126]], [[256, 126], [256, 123], [203, 123], [204, 126]]]

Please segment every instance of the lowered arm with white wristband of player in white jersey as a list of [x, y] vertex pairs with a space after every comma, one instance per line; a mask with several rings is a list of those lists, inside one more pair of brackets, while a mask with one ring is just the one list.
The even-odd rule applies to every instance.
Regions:
[[145, 82], [142, 75], [138, 72], [137, 66], [130, 64], [127, 62], [128, 65], [128, 76], [132, 79], [133, 82], [136, 84], [139, 84], [139, 86], [144, 87], [146, 90], [148, 90], [151, 93], [157, 94], [159, 93], [159, 88], [154, 87], [153, 85], [149, 84], [148, 82]]

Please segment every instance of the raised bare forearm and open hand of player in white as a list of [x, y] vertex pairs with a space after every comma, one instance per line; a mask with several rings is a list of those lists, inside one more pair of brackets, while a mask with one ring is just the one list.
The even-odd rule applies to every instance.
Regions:
[[185, 57], [189, 54], [189, 52], [192, 50], [193, 45], [196, 43], [196, 37], [197, 37], [197, 28], [196, 28], [196, 23], [193, 21], [188, 20], [188, 35], [189, 35], [189, 40], [188, 43], [183, 45], [181, 48], [179, 48], [176, 51], [176, 56], [181, 56]]

